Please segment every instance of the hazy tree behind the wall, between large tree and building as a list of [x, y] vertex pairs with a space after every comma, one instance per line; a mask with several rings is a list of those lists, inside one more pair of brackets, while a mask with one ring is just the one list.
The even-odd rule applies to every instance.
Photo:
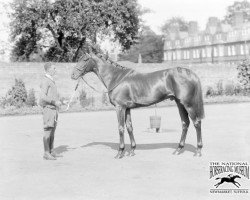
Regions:
[[138, 43], [119, 56], [120, 60], [138, 62], [141, 54], [144, 63], [159, 63], [163, 58], [162, 36], [156, 35], [148, 26], [143, 26]]

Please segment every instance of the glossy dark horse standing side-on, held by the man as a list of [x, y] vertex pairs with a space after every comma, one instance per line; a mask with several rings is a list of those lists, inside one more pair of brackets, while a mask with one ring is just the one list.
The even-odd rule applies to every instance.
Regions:
[[131, 108], [149, 106], [165, 99], [175, 100], [181, 121], [182, 136], [174, 154], [180, 154], [191, 118], [197, 132], [197, 151], [201, 156], [201, 119], [204, 118], [203, 98], [199, 78], [189, 69], [177, 67], [152, 73], [139, 73], [122, 67], [101, 54], [85, 54], [74, 67], [71, 78], [76, 80], [94, 72], [108, 90], [110, 102], [115, 106], [120, 146], [116, 158], [124, 156], [124, 125], [131, 141], [130, 156], [136, 148], [131, 122]]

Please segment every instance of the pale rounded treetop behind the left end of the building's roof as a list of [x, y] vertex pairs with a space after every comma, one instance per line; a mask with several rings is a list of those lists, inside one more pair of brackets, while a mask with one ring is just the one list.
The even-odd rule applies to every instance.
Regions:
[[163, 34], [168, 35], [171, 31], [188, 31], [188, 22], [181, 17], [173, 17], [165, 21], [161, 27]]

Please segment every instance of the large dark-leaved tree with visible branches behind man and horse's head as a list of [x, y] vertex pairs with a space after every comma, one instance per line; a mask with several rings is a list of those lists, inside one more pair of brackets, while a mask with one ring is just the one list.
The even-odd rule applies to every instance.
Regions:
[[75, 61], [102, 35], [114, 36], [124, 50], [137, 38], [136, 0], [14, 0], [11, 4], [13, 60], [29, 60], [40, 48], [50, 61]]

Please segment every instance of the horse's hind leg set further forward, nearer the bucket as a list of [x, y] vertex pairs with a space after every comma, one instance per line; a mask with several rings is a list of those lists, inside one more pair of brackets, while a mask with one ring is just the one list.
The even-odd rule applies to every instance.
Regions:
[[185, 140], [186, 140], [186, 136], [187, 136], [187, 131], [188, 131], [188, 127], [190, 124], [189, 118], [188, 118], [188, 112], [185, 109], [185, 107], [176, 100], [178, 109], [179, 109], [179, 114], [181, 117], [181, 122], [182, 122], [182, 134], [181, 134], [181, 140], [179, 143], [178, 148], [174, 151], [173, 154], [180, 154], [181, 150], [183, 149], [184, 145], [185, 145]]

